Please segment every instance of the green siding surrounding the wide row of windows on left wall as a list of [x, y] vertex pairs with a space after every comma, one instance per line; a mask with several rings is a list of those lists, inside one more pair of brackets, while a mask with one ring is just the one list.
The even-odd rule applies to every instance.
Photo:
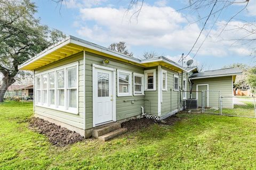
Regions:
[[35, 71], [35, 75], [38, 73], [41, 73], [43, 71], [47, 71], [50, 69], [54, 69], [55, 67], [63, 66], [66, 64], [78, 62], [79, 64], [79, 77], [78, 77], [78, 114], [71, 114], [67, 112], [58, 111], [56, 109], [50, 109], [40, 106], [35, 106], [35, 113], [38, 115], [42, 115], [45, 117], [52, 118], [53, 120], [57, 120], [72, 126], [75, 126], [77, 128], [83, 129], [84, 127], [84, 72], [83, 72], [83, 54], [78, 53], [75, 55], [72, 55], [67, 58], [63, 58], [62, 60], [58, 62], [54, 62], [52, 64], [46, 65], [38, 70]]

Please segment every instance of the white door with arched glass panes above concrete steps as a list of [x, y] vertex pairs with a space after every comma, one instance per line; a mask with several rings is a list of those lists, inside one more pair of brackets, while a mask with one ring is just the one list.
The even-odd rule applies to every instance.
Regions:
[[93, 72], [94, 126], [113, 121], [113, 72], [95, 68]]

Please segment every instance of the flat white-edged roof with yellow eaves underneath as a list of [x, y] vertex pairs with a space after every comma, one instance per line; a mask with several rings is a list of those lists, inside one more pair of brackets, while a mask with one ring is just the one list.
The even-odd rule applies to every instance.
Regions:
[[21, 64], [19, 66], [19, 69], [36, 70], [42, 66], [56, 62], [58, 60], [61, 60], [62, 58], [71, 56], [82, 51], [107, 56], [109, 58], [114, 58], [116, 60], [139, 65], [142, 67], [163, 65], [177, 72], [187, 72], [184, 67], [163, 56], [150, 58], [148, 60], [139, 60], [138, 58], [118, 53], [114, 50], [110, 50], [106, 47], [93, 44], [89, 41], [76, 38], [74, 36], [68, 36], [59, 43], [54, 44], [49, 48], [43, 50], [43, 52], [31, 58], [29, 61]]

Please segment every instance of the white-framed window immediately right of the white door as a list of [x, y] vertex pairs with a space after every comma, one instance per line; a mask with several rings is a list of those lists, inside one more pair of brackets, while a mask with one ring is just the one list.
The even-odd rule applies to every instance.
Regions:
[[117, 70], [117, 78], [117, 96], [131, 96], [132, 72]]

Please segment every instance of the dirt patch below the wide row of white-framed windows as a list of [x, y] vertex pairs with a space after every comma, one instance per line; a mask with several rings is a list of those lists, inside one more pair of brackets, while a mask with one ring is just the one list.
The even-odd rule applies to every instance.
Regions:
[[80, 134], [66, 128], [61, 128], [60, 126], [45, 121], [42, 118], [31, 118], [29, 121], [29, 128], [40, 134], [45, 134], [46, 137], [49, 138], [52, 145], [59, 147], [67, 146], [69, 144], [84, 140]]

